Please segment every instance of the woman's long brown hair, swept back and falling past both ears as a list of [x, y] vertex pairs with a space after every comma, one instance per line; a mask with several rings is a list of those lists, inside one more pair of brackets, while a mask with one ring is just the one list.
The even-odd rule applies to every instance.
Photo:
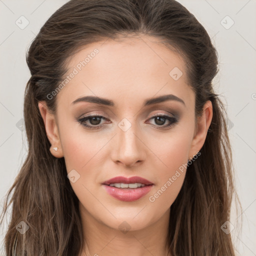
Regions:
[[[68, 57], [81, 46], [128, 34], [160, 38], [178, 51], [196, 95], [196, 116], [207, 100], [213, 106], [201, 155], [187, 167], [170, 207], [169, 251], [173, 256], [235, 255], [230, 233], [220, 228], [229, 220], [236, 193], [227, 116], [212, 86], [218, 57], [206, 30], [175, 0], [70, 0], [45, 22], [26, 54], [31, 72], [24, 94], [28, 153], [4, 203], [3, 215], [12, 204], [4, 239], [7, 256], [70, 256], [81, 251], [78, 198], [63, 157], [55, 158], [49, 151], [38, 101], [45, 100], [54, 113], [56, 97], [47, 95], [64, 79]], [[24, 234], [16, 229], [20, 221], [29, 227]]]

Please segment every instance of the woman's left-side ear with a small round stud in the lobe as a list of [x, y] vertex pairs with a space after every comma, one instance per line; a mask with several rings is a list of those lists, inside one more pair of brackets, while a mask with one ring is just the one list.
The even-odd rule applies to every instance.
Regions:
[[[51, 144], [49, 150], [53, 156], [61, 158], [63, 157], [63, 152], [60, 144], [55, 116], [48, 110], [48, 107], [44, 100], [38, 102], [38, 108], [44, 122], [47, 138], [49, 139]], [[54, 150], [53, 148], [55, 148], [56, 150]]]

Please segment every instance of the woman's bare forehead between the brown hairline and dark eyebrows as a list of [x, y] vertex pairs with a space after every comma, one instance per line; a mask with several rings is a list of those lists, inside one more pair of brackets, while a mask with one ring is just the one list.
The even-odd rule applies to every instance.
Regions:
[[181, 97], [191, 94], [182, 57], [155, 37], [108, 38], [91, 43], [73, 54], [67, 65], [69, 78], [57, 95], [65, 102], [82, 95], [107, 95], [113, 100], [137, 95], [139, 100], [158, 92]]

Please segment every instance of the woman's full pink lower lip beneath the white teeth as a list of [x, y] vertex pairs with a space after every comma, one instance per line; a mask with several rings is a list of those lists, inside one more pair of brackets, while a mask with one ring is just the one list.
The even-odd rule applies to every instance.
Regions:
[[153, 185], [145, 185], [138, 188], [118, 188], [103, 185], [108, 194], [121, 201], [135, 201], [147, 194]]

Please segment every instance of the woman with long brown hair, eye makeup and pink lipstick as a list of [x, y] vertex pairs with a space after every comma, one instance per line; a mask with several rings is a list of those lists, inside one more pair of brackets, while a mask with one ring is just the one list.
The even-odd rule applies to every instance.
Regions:
[[217, 53], [185, 7], [70, 0], [27, 64], [8, 256], [234, 255]]

